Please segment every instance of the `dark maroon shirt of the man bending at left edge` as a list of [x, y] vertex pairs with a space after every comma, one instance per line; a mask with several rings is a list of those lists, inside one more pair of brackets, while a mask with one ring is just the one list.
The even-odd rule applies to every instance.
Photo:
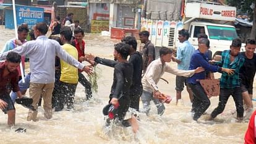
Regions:
[[5, 62], [0, 62], [0, 95], [6, 93], [11, 93], [11, 90], [14, 92], [20, 91], [18, 82], [19, 82], [19, 72], [15, 70], [10, 72], [8, 75], [3, 76], [5, 69]]

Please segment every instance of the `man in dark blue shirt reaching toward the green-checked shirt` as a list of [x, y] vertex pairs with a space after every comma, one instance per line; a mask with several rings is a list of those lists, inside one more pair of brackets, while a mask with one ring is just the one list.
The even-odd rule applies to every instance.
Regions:
[[[233, 70], [224, 69], [219, 66], [212, 66], [207, 61], [207, 56], [205, 53], [210, 45], [210, 41], [207, 38], [202, 38], [198, 41], [198, 49], [191, 57], [191, 62], [189, 69], [197, 69], [197, 67], [203, 67], [205, 71], [211, 72], [227, 72], [228, 74], [233, 74]], [[187, 83], [193, 93], [193, 103], [192, 103], [192, 112], [194, 113], [193, 119], [197, 121], [203, 112], [205, 112], [210, 106], [210, 100], [207, 97], [207, 94], [203, 90], [203, 87], [200, 85], [199, 80], [205, 79], [205, 71], [198, 74], [194, 74], [192, 77], [188, 78]]]

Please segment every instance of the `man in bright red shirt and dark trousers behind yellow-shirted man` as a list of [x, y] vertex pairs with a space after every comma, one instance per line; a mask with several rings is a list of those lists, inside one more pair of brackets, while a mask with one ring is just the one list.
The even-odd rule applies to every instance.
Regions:
[[[79, 62], [87, 61], [85, 57], [85, 41], [83, 41], [84, 32], [81, 28], [75, 28], [74, 30], [75, 40], [73, 44], [75, 48], [77, 48], [77, 52], [79, 54]], [[87, 100], [92, 98], [92, 84], [85, 78], [85, 76], [81, 73], [82, 71], [79, 70], [79, 83], [85, 87], [85, 95]]]

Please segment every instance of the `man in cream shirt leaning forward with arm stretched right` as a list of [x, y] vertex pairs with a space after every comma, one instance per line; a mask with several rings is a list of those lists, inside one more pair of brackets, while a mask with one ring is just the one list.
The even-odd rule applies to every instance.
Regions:
[[166, 47], [160, 49], [160, 59], [156, 59], [151, 62], [145, 72], [145, 75], [142, 78], [143, 85], [143, 93], [142, 93], [142, 103], [143, 103], [143, 112], [149, 115], [150, 112], [150, 101], [156, 104], [156, 108], [158, 110], [158, 114], [161, 116], [164, 112], [164, 104], [158, 100], [158, 96], [161, 95], [160, 91], [156, 84], [160, 80], [161, 76], [164, 72], [169, 72], [174, 75], [191, 77], [195, 73], [202, 72], [204, 69], [202, 67], [198, 67], [195, 70], [179, 70], [173, 69], [171, 66], [166, 64], [166, 62], [171, 62], [171, 57], [173, 55], [173, 51]]

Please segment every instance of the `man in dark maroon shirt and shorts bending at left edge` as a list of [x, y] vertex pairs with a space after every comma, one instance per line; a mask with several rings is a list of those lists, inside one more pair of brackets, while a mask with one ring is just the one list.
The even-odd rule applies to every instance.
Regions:
[[9, 95], [11, 90], [17, 93], [19, 98], [22, 98], [18, 85], [19, 71], [17, 70], [20, 59], [19, 54], [11, 52], [7, 54], [5, 62], [0, 62], [0, 108], [8, 115], [7, 124], [10, 127], [15, 124], [14, 103]]

